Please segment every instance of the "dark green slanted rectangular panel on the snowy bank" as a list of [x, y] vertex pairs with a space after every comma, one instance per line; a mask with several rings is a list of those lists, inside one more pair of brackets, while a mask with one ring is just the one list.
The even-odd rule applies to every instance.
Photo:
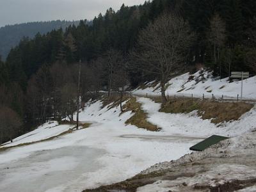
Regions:
[[197, 143], [196, 145], [189, 148], [189, 150], [196, 150], [196, 151], [202, 151], [205, 150], [205, 148], [211, 147], [211, 145], [214, 145], [216, 143], [219, 143], [220, 141], [227, 140], [227, 137], [219, 136], [219, 135], [213, 135], [204, 141], [201, 141], [200, 143]]

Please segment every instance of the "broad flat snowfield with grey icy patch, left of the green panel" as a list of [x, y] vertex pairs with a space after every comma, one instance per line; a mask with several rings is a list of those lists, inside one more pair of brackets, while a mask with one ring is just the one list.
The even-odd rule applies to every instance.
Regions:
[[179, 159], [201, 140], [125, 125], [132, 113], [120, 115], [119, 107], [108, 107], [102, 108], [98, 101], [80, 111], [81, 121], [93, 123], [87, 129], [1, 152], [0, 189], [22, 192], [96, 188], [125, 180], [152, 164]]

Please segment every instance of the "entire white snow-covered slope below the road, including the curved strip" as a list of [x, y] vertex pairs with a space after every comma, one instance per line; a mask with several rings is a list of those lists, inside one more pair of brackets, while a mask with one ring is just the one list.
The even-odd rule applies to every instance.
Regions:
[[[159, 132], [125, 125], [131, 111], [102, 108], [102, 102], [86, 104], [81, 122], [87, 129], [73, 131], [50, 141], [16, 147], [0, 153], [0, 191], [82, 191], [125, 180], [152, 164], [179, 159], [209, 134], [234, 136], [255, 129], [256, 109], [241, 120], [216, 127], [209, 120], [158, 112], [160, 105], [138, 98], [148, 121]], [[244, 127], [244, 122], [246, 126]], [[69, 129], [56, 122], [38, 127], [14, 143], [42, 140]], [[242, 129], [243, 128], [243, 129]], [[22, 183], [22, 185], [20, 185]]]

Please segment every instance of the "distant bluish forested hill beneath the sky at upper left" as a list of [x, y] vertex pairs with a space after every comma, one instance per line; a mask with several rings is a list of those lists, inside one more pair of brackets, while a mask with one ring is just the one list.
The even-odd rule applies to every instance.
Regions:
[[3, 60], [5, 60], [10, 52], [10, 49], [18, 45], [24, 36], [34, 38], [36, 33], [45, 34], [53, 29], [66, 29], [72, 24], [77, 25], [78, 22], [52, 20], [47, 22], [28, 22], [4, 26], [0, 28], [0, 55], [2, 56]]

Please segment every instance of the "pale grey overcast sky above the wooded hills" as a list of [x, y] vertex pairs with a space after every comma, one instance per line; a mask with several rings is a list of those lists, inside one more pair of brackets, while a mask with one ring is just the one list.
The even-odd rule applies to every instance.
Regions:
[[122, 3], [134, 5], [145, 0], [0, 0], [0, 27], [45, 20], [93, 19], [112, 7], [118, 10]]

